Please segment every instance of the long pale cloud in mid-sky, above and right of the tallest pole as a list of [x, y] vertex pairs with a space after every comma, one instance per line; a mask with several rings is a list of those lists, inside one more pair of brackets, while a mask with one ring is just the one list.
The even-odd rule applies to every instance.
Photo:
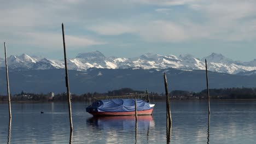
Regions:
[[177, 25], [172, 21], [157, 20], [135, 23], [108, 23], [107, 25], [94, 26], [89, 29], [101, 35], [137, 34], [142, 39], [153, 42], [177, 42], [191, 37], [189, 32], [185, 31], [185, 26]]

